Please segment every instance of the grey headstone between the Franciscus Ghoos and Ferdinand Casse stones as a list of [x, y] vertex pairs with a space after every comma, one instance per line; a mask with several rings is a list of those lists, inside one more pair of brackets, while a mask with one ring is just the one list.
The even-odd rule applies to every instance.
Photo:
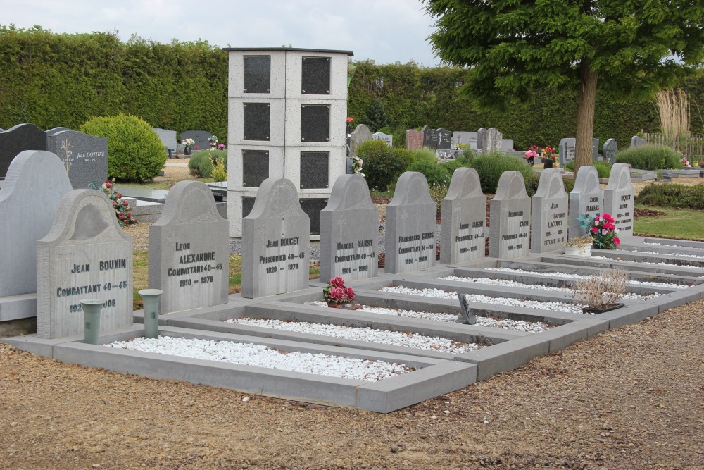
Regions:
[[484, 258], [486, 196], [474, 168], [455, 170], [442, 200], [440, 262], [455, 264]]

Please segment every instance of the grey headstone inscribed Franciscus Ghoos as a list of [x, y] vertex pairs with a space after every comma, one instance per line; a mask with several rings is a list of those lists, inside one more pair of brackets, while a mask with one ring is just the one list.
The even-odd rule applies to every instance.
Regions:
[[384, 271], [401, 273], [435, 266], [437, 205], [423, 173], [406, 171], [386, 206]]

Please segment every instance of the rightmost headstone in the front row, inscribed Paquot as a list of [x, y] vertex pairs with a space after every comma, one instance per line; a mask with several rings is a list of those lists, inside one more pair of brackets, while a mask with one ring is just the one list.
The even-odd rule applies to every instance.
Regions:
[[615, 163], [611, 166], [609, 183], [604, 190], [604, 212], [614, 218], [620, 238], [633, 235], [634, 199], [631, 168], [626, 163]]

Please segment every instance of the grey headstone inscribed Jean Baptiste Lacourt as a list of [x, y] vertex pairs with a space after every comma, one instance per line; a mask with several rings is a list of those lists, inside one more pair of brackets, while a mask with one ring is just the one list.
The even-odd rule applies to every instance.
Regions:
[[567, 241], [567, 192], [557, 168], [543, 170], [531, 205], [532, 253], [562, 248]]

